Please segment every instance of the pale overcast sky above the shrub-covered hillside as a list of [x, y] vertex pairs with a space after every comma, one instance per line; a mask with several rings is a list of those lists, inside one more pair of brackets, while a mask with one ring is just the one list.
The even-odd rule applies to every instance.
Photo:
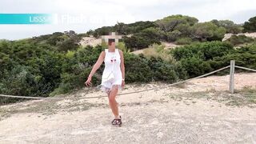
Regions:
[[117, 22], [155, 21], [173, 14], [199, 22], [229, 19], [243, 23], [256, 16], [255, 0], [0, 0], [0, 14], [54, 14], [58, 23], [0, 25], [0, 39], [16, 40], [74, 30], [86, 33]]

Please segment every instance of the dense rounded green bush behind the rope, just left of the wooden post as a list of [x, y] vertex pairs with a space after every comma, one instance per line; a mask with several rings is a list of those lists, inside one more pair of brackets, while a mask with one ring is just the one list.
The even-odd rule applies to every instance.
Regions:
[[178, 47], [171, 54], [181, 62], [188, 76], [193, 78], [223, 66], [214, 59], [225, 57], [233, 51], [233, 47], [226, 42], [202, 42]]

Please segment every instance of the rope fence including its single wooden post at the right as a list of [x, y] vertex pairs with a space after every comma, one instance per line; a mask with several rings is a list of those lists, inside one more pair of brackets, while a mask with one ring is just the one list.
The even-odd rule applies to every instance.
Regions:
[[[249, 69], [249, 68], [246, 68], [246, 67], [242, 67], [242, 66], [234, 66], [234, 61], [231, 61], [230, 62], [230, 66], [226, 66], [226, 67], [223, 67], [221, 69], [218, 69], [218, 70], [214, 70], [210, 73], [207, 73], [207, 74], [203, 74], [203, 75], [200, 75], [198, 77], [195, 77], [195, 78], [189, 78], [189, 79], [186, 79], [184, 81], [181, 81], [181, 82], [174, 82], [172, 84], [168, 84], [166, 86], [158, 86], [158, 87], [154, 87], [154, 88], [151, 88], [151, 89], [146, 89], [146, 90], [138, 90], [138, 91], [133, 91], [133, 92], [128, 92], [128, 93], [121, 93], [121, 94], [118, 94], [118, 95], [126, 95], [126, 94], [135, 94], [135, 93], [141, 93], [141, 92], [145, 92], [145, 91], [150, 91], [150, 90], [158, 90], [158, 89], [163, 89], [163, 88], [166, 88], [166, 87], [169, 87], [169, 86], [175, 86], [175, 85], [178, 85], [178, 84], [181, 84], [181, 83], [184, 83], [184, 82], [189, 82], [189, 81], [192, 81], [194, 79], [197, 79], [197, 78], [203, 78], [203, 77], [206, 77], [210, 74], [214, 74], [214, 73], [217, 73], [218, 71], [221, 71], [221, 70], [225, 70], [227, 68], [230, 68], [230, 92], [231, 93], [234, 93], [234, 67], [237, 67], [239, 69], [243, 69], [243, 70], [251, 70], [251, 71], [254, 71], [256, 72], [256, 70], [254, 69]], [[0, 97], [6, 97], [6, 98], [29, 98], [29, 99], [78, 99], [78, 98], [104, 98], [104, 97], [108, 97], [107, 95], [106, 96], [98, 96], [98, 97], [75, 97], [75, 98], [58, 98], [58, 97], [29, 97], [29, 96], [15, 96], [15, 95], [6, 95], [6, 94], [0, 94]]]

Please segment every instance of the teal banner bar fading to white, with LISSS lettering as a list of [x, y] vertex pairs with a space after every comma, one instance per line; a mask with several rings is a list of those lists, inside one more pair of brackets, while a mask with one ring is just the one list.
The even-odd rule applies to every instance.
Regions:
[[0, 24], [51, 24], [54, 14], [0, 14]]

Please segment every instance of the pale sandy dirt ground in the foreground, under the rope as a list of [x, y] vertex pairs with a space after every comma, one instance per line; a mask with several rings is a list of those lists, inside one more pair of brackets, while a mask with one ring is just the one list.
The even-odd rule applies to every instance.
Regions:
[[256, 143], [256, 74], [210, 76], [185, 84], [126, 85], [118, 95], [122, 126], [105, 94], [85, 88], [60, 95], [73, 99], [29, 100], [0, 108], [0, 143]]

